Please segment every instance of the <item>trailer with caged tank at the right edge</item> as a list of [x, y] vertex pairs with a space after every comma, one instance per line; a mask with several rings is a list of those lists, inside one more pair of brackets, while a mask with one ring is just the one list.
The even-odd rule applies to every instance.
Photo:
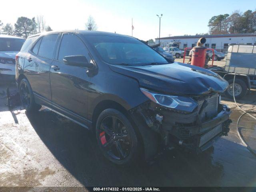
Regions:
[[213, 66], [208, 68], [229, 82], [225, 94], [233, 98], [244, 97], [251, 88], [256, 88], [256, 45], [229, 44], [224, 68]]

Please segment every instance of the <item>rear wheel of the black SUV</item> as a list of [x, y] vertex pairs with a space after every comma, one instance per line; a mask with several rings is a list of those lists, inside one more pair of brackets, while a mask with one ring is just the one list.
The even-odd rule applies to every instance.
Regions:
[[20, 101], [27, 112], [35, 112], [41, 108], [41, 105], [35, 103], [32, 88], [26, 79], [19, 83]]

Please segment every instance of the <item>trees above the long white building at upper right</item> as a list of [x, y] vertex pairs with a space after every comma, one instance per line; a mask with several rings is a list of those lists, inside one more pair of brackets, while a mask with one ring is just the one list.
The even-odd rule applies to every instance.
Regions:
[[224, 14], [213, 16], [208, 23], [210, 34], [233, 34], [256, 32], [256, 11], [239, 11], [231, 15]]

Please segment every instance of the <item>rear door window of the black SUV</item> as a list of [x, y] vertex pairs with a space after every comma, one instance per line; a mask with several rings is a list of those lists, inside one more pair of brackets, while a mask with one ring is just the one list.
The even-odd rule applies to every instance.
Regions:
[[53, 58], [53, 52], [54, 52], [57, 38], [58, 38], [58, 34], [50, 34], [50, 35], [44, 36], [40, 44], [38, 55], [46, 58]]

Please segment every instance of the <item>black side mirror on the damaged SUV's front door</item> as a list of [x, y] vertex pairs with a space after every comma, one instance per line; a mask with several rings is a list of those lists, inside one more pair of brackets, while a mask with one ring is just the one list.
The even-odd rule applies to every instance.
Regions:
[[89, 63], [85, 56], [82, 55], [70, 55], [65, 56], [63, 61], [66, 65], [76, 66], [76, 67], [87, 67], [89, 69], [94, 68], [94, 64]]

